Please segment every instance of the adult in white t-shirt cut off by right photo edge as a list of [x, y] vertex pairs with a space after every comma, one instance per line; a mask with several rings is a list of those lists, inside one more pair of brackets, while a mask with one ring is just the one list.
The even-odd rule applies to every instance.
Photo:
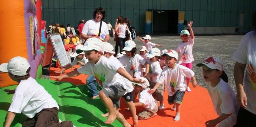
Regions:
[[[256, 11], [252, 14], [252, 27], [256, 30]], [[234, 127], [256, 127], [256, 31], [248, 32], [233, 54], [236, 62], [234, 78], [236, 100], [240, 109]], [[246, 73], [245, 72], [246, 69]], [[245, 80], [243, 80], [245, 74]], [[243, 84], [244, 83], [244, 84]]]

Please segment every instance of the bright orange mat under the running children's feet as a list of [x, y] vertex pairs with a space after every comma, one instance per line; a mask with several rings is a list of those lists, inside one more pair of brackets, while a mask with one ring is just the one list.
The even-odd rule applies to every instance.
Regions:
[[[54, 71], [60, 70], [59, 68], [50, 68], [50, 75], [54, 74]], [[65, 71], [70, 72], [71, 69]], [[68, 81], [76, 85], [86, 84], [86, 78], [88, 75], [81, 74], [77, 77], [63, 79], [62, 81]], [[51, 78], [52, 79], [52, 78]], [[53, 79], [54, 80], [54, 79]], [[197, 86], [193, 88], [190, 85], [192, 92], [186, 92], [181, 105], [180, 120], [174, 121], [175, 111], [172, 109], [173, 105], [168, 104], [168, 93], [164, 92], [164, 107], [165, 109], [159, 110], [157, 116], [148, 120], [139, 120], [138, 127], [205, 127], [205, 123], [208, 120], [217, 118], [217, 114], [214, 111], [211, 98], [208, 94], [207, 89]], [[138, 98], [137, 98], [138, 101]], [[126, 111], [128, 108], [125, 105], [125, 100], [121, 97], [121, 108], [119, 109], [125, 119], [132, 125], [131, 112]], [[139, 114], [144, 111], [144, 107], [136, 107], [136, 112]]]

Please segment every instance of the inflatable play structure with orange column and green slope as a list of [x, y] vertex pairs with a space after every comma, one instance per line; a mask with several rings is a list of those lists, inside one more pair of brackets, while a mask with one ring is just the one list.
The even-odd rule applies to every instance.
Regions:
[[[14, 4], [15, 3], [15, 4]], [[0, 35], [0, 64], [9, 59], [21, 56], [28, 59], [31, 66], [30, 75], [53, 96], [59, 104], [59, 118], [72, 121], [77, 127], [85, 126], [122, 126], [117, 120], [106, 125], [106, 118], [100, 117], [106, 113], [100, 99], [89, 99], [85, 85], [73, 85], [65, 81], [40, 79], [42, 75], [42, 53], [45, 46], [45, 21], [41, 21], [40, 0], [9, 0], [0, 4], [0, 23], [3, 33]], [[41, 25], [42, 24], [42, 25]], [[8, 34], [7, 34], [8, 33]], [[42, 35], [42, 37], [41, 37]], [[8, 73], [0, 72], [0, 123], [3, 126], [13, 95], [8, 95], [4, 89], [13, 90], [18, 83], [11, 80]], [[93, 105], [92, 105], [93, 103]], [[26, 117], [17, 114], [12, 127], [21, 127]]]

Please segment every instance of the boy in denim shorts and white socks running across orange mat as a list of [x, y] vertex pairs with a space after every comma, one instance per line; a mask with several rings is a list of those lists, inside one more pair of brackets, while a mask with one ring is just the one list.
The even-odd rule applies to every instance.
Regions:
[[176, 110], [174, 121], [179, 121], [180, 107], [186, 90], [184, 76], [192, 77], [192, 84], [194, 88], [197, 86], [197, 82], [195, 81], [194, 72], [191, 69], [180, 64], [176, 64], [179, 58], [176, 51], [170, 49], [168, 52], [164, 53], [163, 56], [166, 56], [166, 67], [160, 74], [154, 88], [150, 89], [149, 92], [151, 94], [154, 93], [158, 86], [163, 84], [165, 81], [166, 89], [168, 91], [168, 103], [170, 105], [174, 104], [173, 109]]

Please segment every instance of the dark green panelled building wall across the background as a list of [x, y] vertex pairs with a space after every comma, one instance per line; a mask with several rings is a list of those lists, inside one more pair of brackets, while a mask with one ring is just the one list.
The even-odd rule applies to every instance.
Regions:
[[[255, 0], [42, 0], [42, 20], [77, 27], [80, 20], [93, 18], [97, 7], [106, 10], [106, 20], [114, 27], [118, 16], [128, 17], [131, 26], [145, 33], [145, 11], [179, 10], [193, 27], [235, 27], [239, 32], [252, 31], [251, 16]], [[240, 19], [242, 14], [243, 18]], [[200, 29], [198, 29], [200, 30]]]

